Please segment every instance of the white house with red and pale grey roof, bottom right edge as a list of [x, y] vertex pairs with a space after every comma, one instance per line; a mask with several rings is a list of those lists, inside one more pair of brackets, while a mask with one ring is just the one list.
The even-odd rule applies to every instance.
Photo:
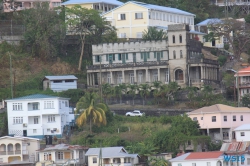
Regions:
[[169, 160], [172, 166], [223, 166], [223, 152], [191, 152]]

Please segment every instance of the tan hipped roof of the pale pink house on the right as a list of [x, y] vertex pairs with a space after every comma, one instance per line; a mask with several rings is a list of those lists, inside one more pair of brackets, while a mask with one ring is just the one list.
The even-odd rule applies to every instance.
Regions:
[[247, 107], [231, 107], [223, 104], [215, 104], [208, 107], [202, 107], [197, 110], [191, 111], [188, 114], [204, 114], [204, 113], [219, 113], [219, 112], [249, 112], [250, 109]]

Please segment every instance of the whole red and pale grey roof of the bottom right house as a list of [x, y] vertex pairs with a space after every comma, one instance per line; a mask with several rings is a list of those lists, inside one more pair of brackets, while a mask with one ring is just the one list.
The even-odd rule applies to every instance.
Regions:
[[204, 160], [204, 159], [217, 159], [222, 156], [222, 151], [211, 152], [190, 152], [169, 160], [170, 162], [185, 161], [185, 160]]

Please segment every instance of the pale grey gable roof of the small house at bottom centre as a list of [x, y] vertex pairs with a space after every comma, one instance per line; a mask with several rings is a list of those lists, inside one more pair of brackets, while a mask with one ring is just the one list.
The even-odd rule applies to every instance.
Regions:
[[102, 149], [102, 158], [131, 157], [136, 158], [138, 154], [128, 154], [123, 147], [89, 148], [85, 156], [99, 156]]

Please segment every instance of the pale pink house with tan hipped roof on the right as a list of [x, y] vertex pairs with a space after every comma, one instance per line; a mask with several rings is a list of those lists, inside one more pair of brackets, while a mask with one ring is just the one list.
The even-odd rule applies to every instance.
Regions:
[[249, 123], [250, 109], [247, 107], [231, 107], [215, 104], [187, 113], [198, 121], [203, 134], [211, 136], [213, 140], [232, 141], [235, 139], [234, 129]]

